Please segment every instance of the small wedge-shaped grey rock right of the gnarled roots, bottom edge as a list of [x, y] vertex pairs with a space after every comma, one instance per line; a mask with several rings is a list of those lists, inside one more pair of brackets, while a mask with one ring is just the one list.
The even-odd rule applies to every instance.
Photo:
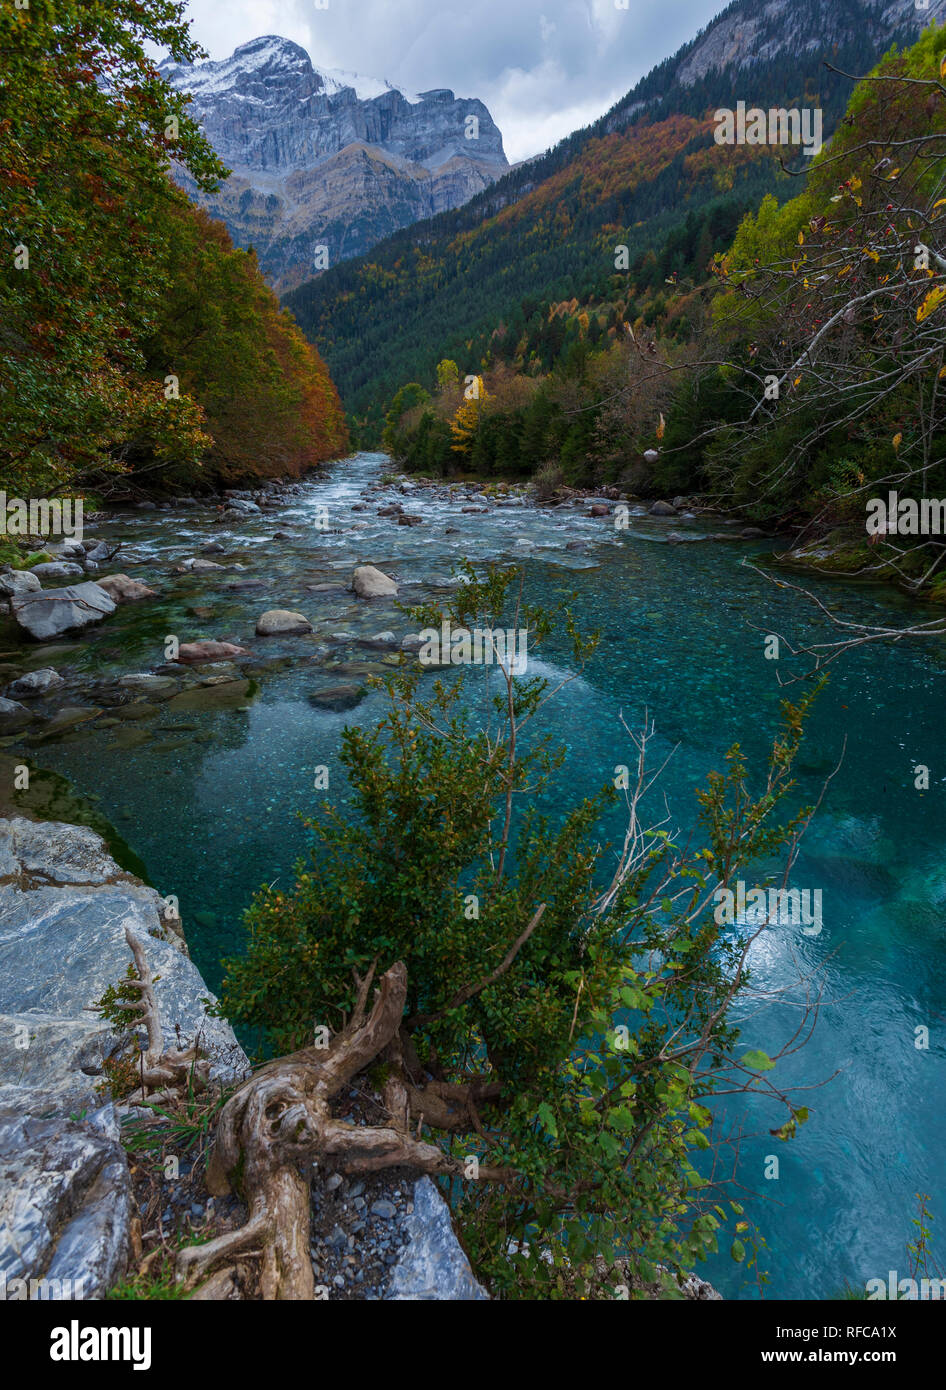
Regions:
[[407, 1244], [395, 1265], [386, 1298], [488, 1300], [453, 1230], [450, 1209], [429, 1177], [414, 1184], [414, 1211], [407, 1218]]

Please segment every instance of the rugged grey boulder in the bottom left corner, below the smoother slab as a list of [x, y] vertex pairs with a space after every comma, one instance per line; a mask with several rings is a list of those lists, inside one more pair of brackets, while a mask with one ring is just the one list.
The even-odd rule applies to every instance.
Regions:
[[125, 1268], [132, 1209], [114, 1108], [106, 1105], [88, 1120], [43, 1116], [31, 1112], [42, 1093], [10, 1091], [0, 1088], [6, 1295], [24, 1289], [13, 1280], [43, 1279], [46, 1297], [100, 1298]]

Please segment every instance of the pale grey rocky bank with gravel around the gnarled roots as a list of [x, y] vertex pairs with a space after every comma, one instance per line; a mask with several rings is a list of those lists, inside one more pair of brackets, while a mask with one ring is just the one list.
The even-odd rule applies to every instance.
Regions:
[[[7, 1297], [103, 1298], [122, 1283], [147, 1297], [149, 1272], [167, 1265], [179, 1245], [244, 1219], [235, 1198], [208, 1198], [203, 1190], [204, 1151], [192, 1152], [179, 1129], [149, 1129], [146, 1112], [114, 1097], [122, 1065], [136, 1055], [136, 1033], [115, 1033], [93, 1006], [126, 974], [128, 931], [144, 945], [156, 977], [165, 1045], [197, 1040], [210, 1059], [211, 1094], [221, 1094], [247, 1074], [249, 1059], [229, 1024], [208, 1012], [214, 997], [165, 899], [124, 872], [89, 828], [0, 820], [0, 1279]], [[353, 1090], [349, 1118], [357, 1122], [364, 1104]], [[149, 1145], [140, 1143], [144, 1133]], [[322, 1298], [486, 1297], [442, 1197], [418, 1175], [350, 1183], [328, 1169], [317, 1173], [311, 1240]], [[203, 1291], [238, 1295], [219, 1282]]]

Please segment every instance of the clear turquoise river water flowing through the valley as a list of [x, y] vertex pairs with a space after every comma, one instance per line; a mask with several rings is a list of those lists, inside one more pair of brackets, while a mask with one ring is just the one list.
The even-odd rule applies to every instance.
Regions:
[[[354, 564], [374, 563], [401, 581], [401, 600], [421, 602], [467, 556], [521, 559], [531, 598], [576, 594], [579, 624], [600, 627], [603, 641], [550, 710], [553, 731], [570, 749], [563, 795], [571, 801], [595, 791], [613, 777], [615, 763], [631, 760], [618, 713], [633, 724], [646, 708], [657, 724], [654, 758], [679, 745], [663, 785], [683, 828], [695, 819], [693, 788], [721, 764], [722, 752], [740, 741], [761, 766], [771, 741], [786, 692], [750, 623], [796, 642], [824, 632], [799, 595], [739, 564], [758, 546], [647, 543], [661, 541], [670, 527], [679, 530], [675, 521], [635, 520], [631, 534], [615, 534], [567, 510], [511, 506], [463, 514], [470, 503], [460, 496], [400, 498], [425, 517], [424, 527], [379, 520], [374, 496], [367, 512], [353, 513], [385, 467], [379, 456], [358, 456], [313, 482], [304, 500], [229, 530], [203, 512], [133, 516], [104, 527], [101, 534], [122, 537], [138, 560], [117, 569], [154, 582], [161, 599], [119, 609], [86, 644], [53, 662], [79, 682], [150, 670], [164, 659], [168, 632], [182, 641], [243, 641], [264, 657], [292, 657], [260, 677], [244, 709], [165, 708], [147, 731], [93, 728], [33, 753], [79, 792], [96, 795], [154, 884], [178, 895], [192, 952], [213, 987], [221, 955], [239, 949], [240, 913], [256, 887], [289, 881], [306, 844], [296, 813], [311, 810], [322, 795], [311, 790], [314, 767], [329, 766], [332, 795], [343, 798], [340, 730], [374, 721], [382, 706], [372, 694], [347, 714], [314, 709], [310, 691], [350, 677], [332, 677], [300, 656], [336, 631], [410, 630], [383, 602], [358, 603], [307, 585], [347, 582]], [[314, 530], [322, 506], [338, 534]], [[447, 525], [458, 532], [446, 535]], [[278, 530], [296, 539], [274, 542]], [[213, 559], [246, 570], [168, 574], [171, 562], [211, 538], [228, 550]], [[522, 538], [533, 543], [522, 545]], [[565, 550], [575, 539], [588, 542], [585, 555]], [[249, 578], [265, 587], [228, 588]], [[821, 585], [818, 592], [832, 603], [843, 598], [846, 612], [856, 614], [906, 612], [878, 591]], [[194, 607], [211, 616], [194, 614]], [[301, 609], [317, 635], [256, 639], [256, 617], [268, 607]], [[357, 646], [339, 656], [365, 657], [374, 653]], [[565, 671], [564, 648], [546, 649], [543, 663]], [[827, 1002], [814, 1037], [779, 1063], [778, 1083], [814, 1086], [840, 1074], [807, 1094], [811, 1119], [790, 1144], [767, 1133], [782, 1120], [774, 1108], [757, 1098], [725, 1104], [727, 1122], [747, 1133], [738, 1176], [758, 1194], [746, 1197], [746, 1205], [770, 1247], [763, 1264], [774, 1297], [824, 1298], [845, 1282], [863, 1284], [888, 1269], [906, 1273], [917, 1191], [932, 1194], [933, 1230], [946, 1233], [945, 682], [942, 646], [860, 649], [835, 669], [810, 724], [799, 764], [810, 799], [847, 741], [792, 873], [793, 884], [822, 890], [824, 930], [804, 937], [772, 927], [752, 966], [760, 990], [788, 986], [799, 967], [824, 970]], [[928, 792], [914, 787], [917, 763], [929, 766]], [[747, 1024], [746, 1045], [774, 1052], [796, 1022], [790, 1006], [768, 1012]], [[928, 1051], [914, 1047], [917, 1026], [929, 1027]], [[781, 1161], [778, 1182], [763, 1176], [770, 1154]], [[935, 1245], [946, 1258], [946, 1234]], [[728, 1255], [700, 1272], [727, 1297], [754, 1297], [754, 1283]]]

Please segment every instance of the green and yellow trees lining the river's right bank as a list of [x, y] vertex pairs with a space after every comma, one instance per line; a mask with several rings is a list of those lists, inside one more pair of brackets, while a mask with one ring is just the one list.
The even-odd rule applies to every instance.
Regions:
[[[385, 445], [420, 471], [549, 493], [699, 493], [813, 524], [817, 563], [938, 589], [942, 542], [902, 525], [875, 549], [886, 527], [868, 535], [865, 503], [946, 492], [945, 70], [931, 26], [857, 86], [804, 189], [763, 199], [707, 274], [667, 284], [652, 264], [617, 303], [551, 306], [553, 364], [495, 353], [464, 385], [442, 360], [433, 391], [397, 392]], [[686, 224], [671, 245], [685, 260]]]

